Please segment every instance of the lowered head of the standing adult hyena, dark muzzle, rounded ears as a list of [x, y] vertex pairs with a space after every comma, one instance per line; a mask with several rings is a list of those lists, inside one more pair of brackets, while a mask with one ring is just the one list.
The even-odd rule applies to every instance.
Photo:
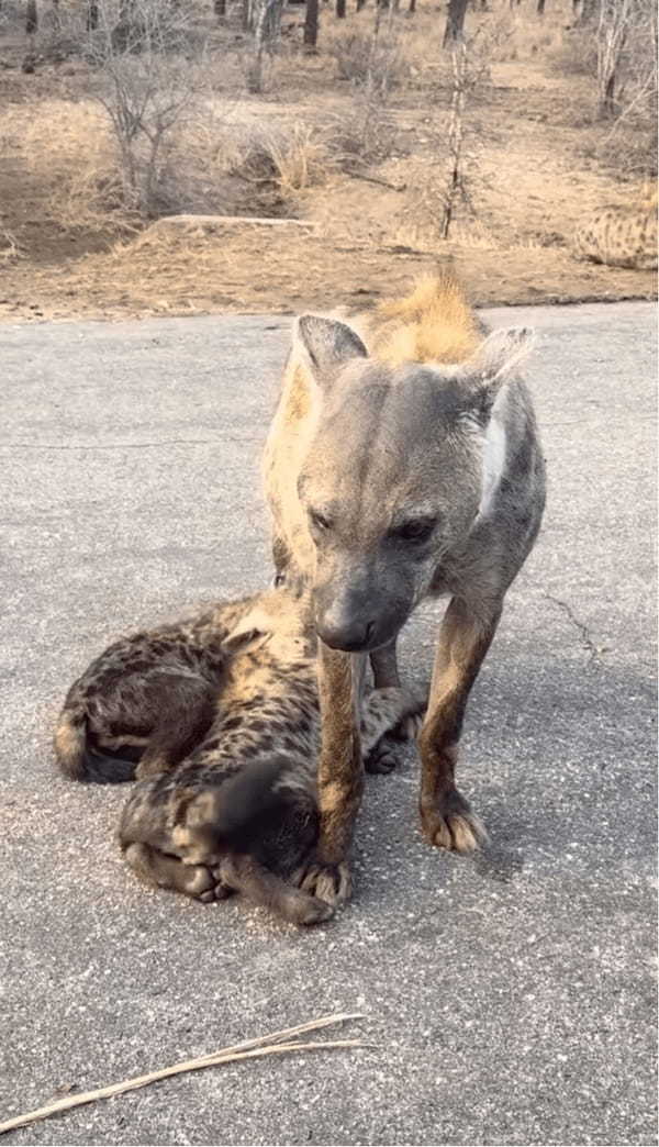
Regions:
[[[465, 540], [505, 436], [491, 414], [531, 333], [491, 335], [465, 362], [389, 367], [345, 323], [305, 315], [293, 356], [314, 396], [298, 497], [315, 545], [320, 637], [337, 649], [385, 645]], [[499, 457], [496, 457], [499, 455]]]

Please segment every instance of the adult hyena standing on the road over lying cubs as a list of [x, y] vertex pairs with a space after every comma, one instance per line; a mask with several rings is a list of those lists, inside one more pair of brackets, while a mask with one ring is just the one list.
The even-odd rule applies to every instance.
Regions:
[[364, 655], [398, 685], [397, 635], [447, 596], [419, 736], [421, 821], [469, 852], [484, 829], [455, 785], [465, 705], [544, 505], [544, 463], [519, 368], [525, 329], [484, 328], [450, 274], [382, 306], [360, 333], [295, 327], [265, 454], [275, 563], [309, 587], [319, 643], [321, 834], [303, 887], [345, 899], [362, 791]]

